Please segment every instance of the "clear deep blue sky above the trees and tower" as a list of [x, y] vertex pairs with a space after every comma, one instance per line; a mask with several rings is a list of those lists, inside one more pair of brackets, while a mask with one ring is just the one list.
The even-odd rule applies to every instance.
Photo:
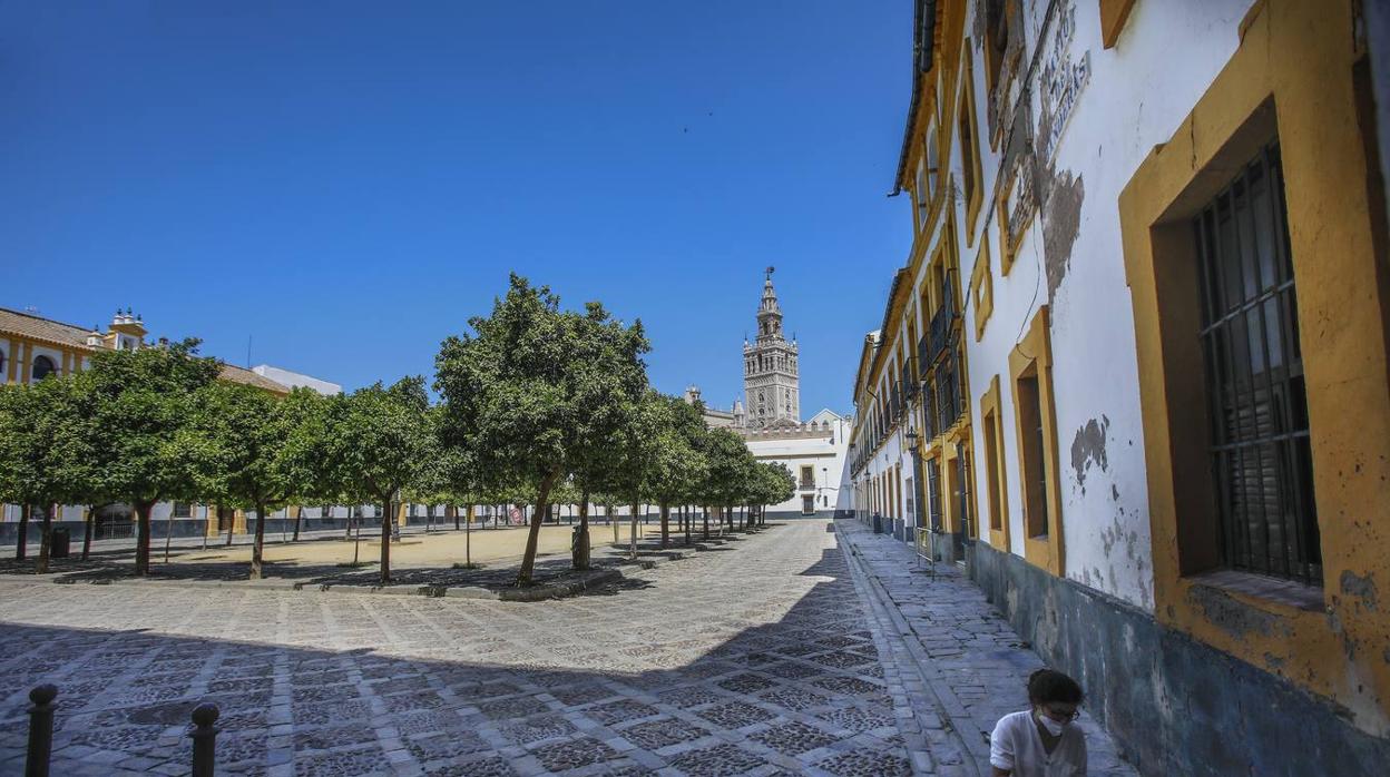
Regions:
[[516, 270], [727, 406], [771, 264], [803, 414], [849, 407], [910, 239], [908, 0], [328, 6], [0, 1], [0, 306], [356, 388]]

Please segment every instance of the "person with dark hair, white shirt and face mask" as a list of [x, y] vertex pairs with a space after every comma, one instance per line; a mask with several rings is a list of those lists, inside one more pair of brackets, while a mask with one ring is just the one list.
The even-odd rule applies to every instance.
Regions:
[[1030, 709], [1001, 717], [990, 735], [994, 777], [1084, 777], [1086, 735], [1072, 726], [1081, 698], [1081, 687], [1061, 671], [1030, 674]]

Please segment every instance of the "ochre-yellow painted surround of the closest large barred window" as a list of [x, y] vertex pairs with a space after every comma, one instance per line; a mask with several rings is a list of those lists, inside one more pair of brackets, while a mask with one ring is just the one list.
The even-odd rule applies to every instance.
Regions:
[[[1390, 735], [1390, 363], [1372, 250], [1366, 158], [1352, 90], [1351, 3], [1268, 0], [1193, 113], [1120, 197], [1138, 345], [1156, 617], [1332, 699], [1364, 731]], [[1202, 527], [1213, 500], [1198, 385], [1194, 281], [1183, 222], [1277, 128], [1286, 181], [1323, 588], [1240, 591]], [[1195, 400], [1195, 402], [1194, 402]], [[1195, 406], [1195, 410], [1194, 410]], [[1207, 484], [1205, 486], [1202, 484]], [[1283, 587], [1283, 591], [1280, 591]], [[1297, 710], [1289, 710], [1297, 714]]]

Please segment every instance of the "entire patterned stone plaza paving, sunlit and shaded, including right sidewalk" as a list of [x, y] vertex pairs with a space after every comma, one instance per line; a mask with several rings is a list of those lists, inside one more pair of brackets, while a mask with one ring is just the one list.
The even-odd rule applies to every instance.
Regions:
[[[39, 682], [54, 774], [186, 774], [202, 701], [225, 774], [980, 773], [1037, 656], [959, 575], [835, 523], [538, 603], [4, 577], [0, 773]], [[1133, 773], [1080, 724], [1093, 773]]]

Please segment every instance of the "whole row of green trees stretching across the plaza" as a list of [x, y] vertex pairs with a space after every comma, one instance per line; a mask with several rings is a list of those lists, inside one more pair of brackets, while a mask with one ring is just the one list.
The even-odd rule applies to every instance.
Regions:
[[[54, 505], [126, 503], [138, 574], [150, 567], [158, 502], [215, 502], [257, 516], [250, 577], [263, 571], [264, 517], [288, 505], [379, 506], [381, 581], [391, 581], [392, 505], [496, 505], [532, 512], [517, 582], [528, 584], [545, 507], [580, 507], [574, 566], [589, 564], [589, 505], [653, 503], [662, 545], [673, 507], [724, 509], [790, 499], [791, 473], [760, 464], [701, 409], [651, 389], [641, 322], [600, 304], [566, 311], [548, 288], [513, 275], [492, 314], [470, 320], [423, 378], [325, 398], [281, 398], [217, 379], [197, 341], [93, 354], [89, 368], [0, 388], [0, 502], [21, 505], [22, 557], [33, 507], [47, 569]], [[688, 513], [688, 512], [687, 512]], [[706, 518], [708, 521], [708, 518]], [[687, 517], [687, 537], [689, 531]], [[708, 527], [706, 527], [708, 531]], [[90, 542], [88, 527], [86, 542]], [[296, 524], [297, 538], [297, 524]]]

